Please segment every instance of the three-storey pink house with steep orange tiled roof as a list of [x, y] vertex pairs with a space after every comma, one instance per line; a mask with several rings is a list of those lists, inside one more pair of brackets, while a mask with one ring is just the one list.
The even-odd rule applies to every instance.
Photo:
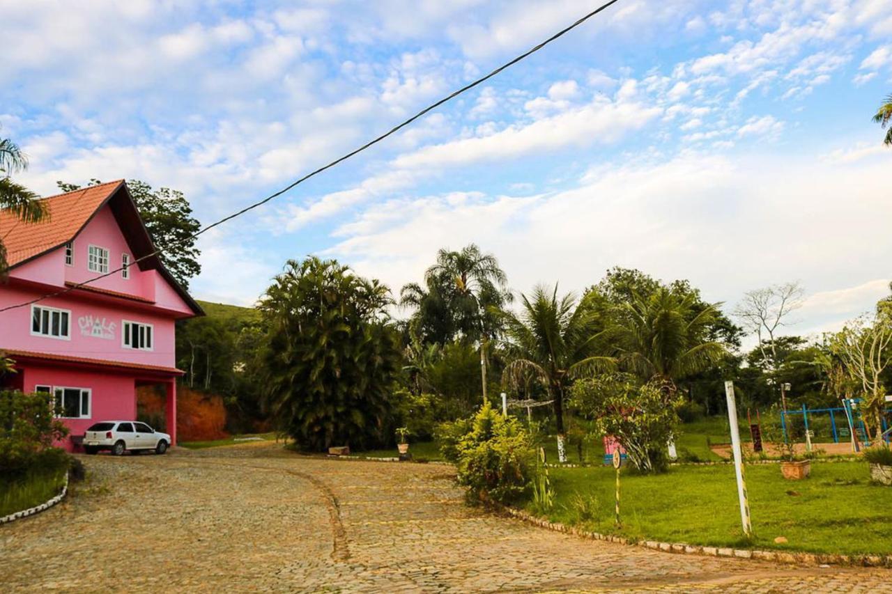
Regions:
[[0, 311], [0, 352], [18, 371], [0, 384], [53, 394], [68, 450], [96, 421], [136, 418], [136, 387], [160, 384], [176, 444], [174, 324], [202, 309], [156, 256], [136, 262], [154, 247], [123, 181], [43, 200], [42, 223], [0, 211], [0, 309], [25, 304]]

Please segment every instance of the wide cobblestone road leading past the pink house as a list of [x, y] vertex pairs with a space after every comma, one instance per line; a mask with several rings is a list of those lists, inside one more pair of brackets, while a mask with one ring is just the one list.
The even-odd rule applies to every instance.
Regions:
[[888, 570], [670, 555], [491, 516], [447, 466], [271, 444], [84, 459], [95, 478], [75, 497], [0, 526], [0, 590], [892, 591]]

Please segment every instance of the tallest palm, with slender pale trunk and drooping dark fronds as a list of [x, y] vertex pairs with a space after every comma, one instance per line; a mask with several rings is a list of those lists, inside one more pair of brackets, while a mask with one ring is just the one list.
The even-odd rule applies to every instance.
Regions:
[[[480, 342], [483, 400], [486, 400], [486, 343], [500, 332], [500, 309], [512, 301], [508, 277], [499, 260], [474, 243], [460, 251], [442, 249], [425, 272], [426, 290], [417, 284], [401, 290], [401, 305], [416, 308], [415, 326], [424, 334]], [[420, 327], [419, 327], [420, 326]], [[443, 341], [445, 342], [445, 340]]]

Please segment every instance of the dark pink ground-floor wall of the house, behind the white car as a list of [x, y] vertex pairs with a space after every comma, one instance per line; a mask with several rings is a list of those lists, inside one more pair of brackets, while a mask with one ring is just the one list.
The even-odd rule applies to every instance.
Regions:
[[[71, 435], [83, 435], [87, 427], [97, 421], [136, 418], [136, 382], [133, 375], [32, 365], [24, 366], [21, 375], [26, 392], [33, 392], [37, 385], [90, 389], [90, 417], [62, 419]], [[59, 445], [71, 450], [70, 439]]]

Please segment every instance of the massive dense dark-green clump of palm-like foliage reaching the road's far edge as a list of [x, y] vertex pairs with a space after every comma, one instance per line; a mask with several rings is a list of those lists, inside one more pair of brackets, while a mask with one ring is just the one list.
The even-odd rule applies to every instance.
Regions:
[[389, 291], [335, 260], [289, 260], [260, 300], [274, 421], [301, 446], [368, 447], [389, 436], [400, 370]]

